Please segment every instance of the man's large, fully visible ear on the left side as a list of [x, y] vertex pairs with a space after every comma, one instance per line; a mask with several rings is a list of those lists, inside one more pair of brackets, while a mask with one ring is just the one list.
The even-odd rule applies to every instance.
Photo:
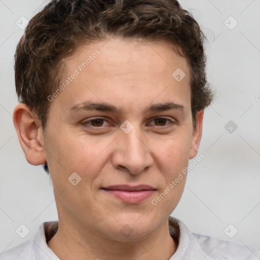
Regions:
[[26, 160], [31, 165], [43, 165], [44, 136], [41, 121], [23, 103], [15, 107], [13, 122]]

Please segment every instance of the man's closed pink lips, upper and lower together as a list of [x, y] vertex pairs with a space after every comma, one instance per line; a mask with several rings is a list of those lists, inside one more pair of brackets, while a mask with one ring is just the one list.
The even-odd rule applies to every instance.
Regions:
[[132, 204], [140, 203], [146, 200], [156, 190], [148, 185], [113, 185], [103, 189], [121, 201]]

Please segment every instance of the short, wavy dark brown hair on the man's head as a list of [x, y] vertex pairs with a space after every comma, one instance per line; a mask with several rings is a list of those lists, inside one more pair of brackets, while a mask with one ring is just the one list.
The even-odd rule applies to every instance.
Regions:
[[[205, 36], [192, 15], [176, 0], [52, 0], [28, 23], [15, 53], [15, 85], [46, 126], [49, 100], [60, 84], [61, 61], [80, 45], [109, 37], [164, 41], [180, 48], [191, 72], [191, 112], [210, 105], [206, 79]], [[45, 170], [47, 165], [45, 165]]]

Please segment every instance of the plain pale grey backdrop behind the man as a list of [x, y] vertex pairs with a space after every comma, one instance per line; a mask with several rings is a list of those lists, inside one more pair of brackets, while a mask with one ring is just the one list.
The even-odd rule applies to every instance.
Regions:
[[[0, 1], [0, 251], [57, 220], [50, 177], [27, 163], [12, 120], [18, 104], [13, 56], [24, 32], [16, 21], [31, 19], [48, 2]], [[260, 249], [260, 1], [180, 3], [208, 37], [207, 74], [216, 99], [205, 111], [199, 150], [205, 158], [188, 173], [172, 216], [191, 232]], [[30, 231], [25, 238], [16, 233], [21, 224]], [[233, 238], [226, 235], [236, 230]]]

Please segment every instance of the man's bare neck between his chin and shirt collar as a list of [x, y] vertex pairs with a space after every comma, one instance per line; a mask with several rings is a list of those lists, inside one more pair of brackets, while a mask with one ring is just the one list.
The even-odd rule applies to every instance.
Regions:
[[60, 260], [121, 260], [122, 256], [125, 260], [169, 260], [177, 249], [177, 243], [169, 233], [168, 221], [145, 239], [122, 242], [99, 236], [91, 230], [83, 232], [75, 225], [59, 220], [58, 231], [48, 246]]

